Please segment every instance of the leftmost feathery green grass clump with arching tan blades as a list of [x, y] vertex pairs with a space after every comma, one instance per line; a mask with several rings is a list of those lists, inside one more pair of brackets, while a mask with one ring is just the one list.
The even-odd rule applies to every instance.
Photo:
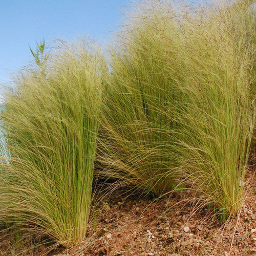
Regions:
[[[15, 79], [1, 115], [0, 222], [63, 246], [86, 236], [106, 67], [98, 50], [61, 46]], [[1, 148], [5, 156], [6, 148]]]

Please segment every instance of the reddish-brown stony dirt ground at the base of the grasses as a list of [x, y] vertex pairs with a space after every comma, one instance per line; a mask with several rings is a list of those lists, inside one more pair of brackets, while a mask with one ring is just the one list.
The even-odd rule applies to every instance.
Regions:
[[[116, 191], [93, 210], [84, 242], [49, 255], [256, 255], [255, 171], [247, 172], [239, 217], [225, 224], [211, 206], [192, 198], [183, 192], [152, 201]], [[46, 251], [40, 246], [24, 255]], [[15, 255], [1, 238], [0, 255]]]

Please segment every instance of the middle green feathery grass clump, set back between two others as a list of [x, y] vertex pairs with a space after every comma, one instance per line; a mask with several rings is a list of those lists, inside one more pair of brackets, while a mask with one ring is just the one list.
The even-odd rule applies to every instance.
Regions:
[[142, 7], [130, 18], [110, 50], [98, 161], [100, 176], [159, 197], [179, 183], [180, 121], [173, 113], [183, 108], [176, 81], [182, 67], [173, 62], [181, 38], [178, 23], [162, 20], [159, 8], [148, 14]]

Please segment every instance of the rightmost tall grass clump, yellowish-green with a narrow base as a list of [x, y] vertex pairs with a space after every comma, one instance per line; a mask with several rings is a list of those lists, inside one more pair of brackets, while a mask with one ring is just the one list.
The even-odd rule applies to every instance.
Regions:
[[255, 16], [250, 3], [217, 5], [184, 19], [184, 173], [223, 219], [241, 207], [255, 122]]

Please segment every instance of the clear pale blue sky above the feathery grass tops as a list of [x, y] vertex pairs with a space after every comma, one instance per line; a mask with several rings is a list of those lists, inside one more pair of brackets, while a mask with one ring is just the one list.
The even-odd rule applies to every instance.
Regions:
[[[0, 83], [32, 60], [36, 40], [72, 40], [89, 36], [97, 42], [111, 37], [132, 0], [0, 0]], [[194, 0], [197, 2], [197, 0]]]

